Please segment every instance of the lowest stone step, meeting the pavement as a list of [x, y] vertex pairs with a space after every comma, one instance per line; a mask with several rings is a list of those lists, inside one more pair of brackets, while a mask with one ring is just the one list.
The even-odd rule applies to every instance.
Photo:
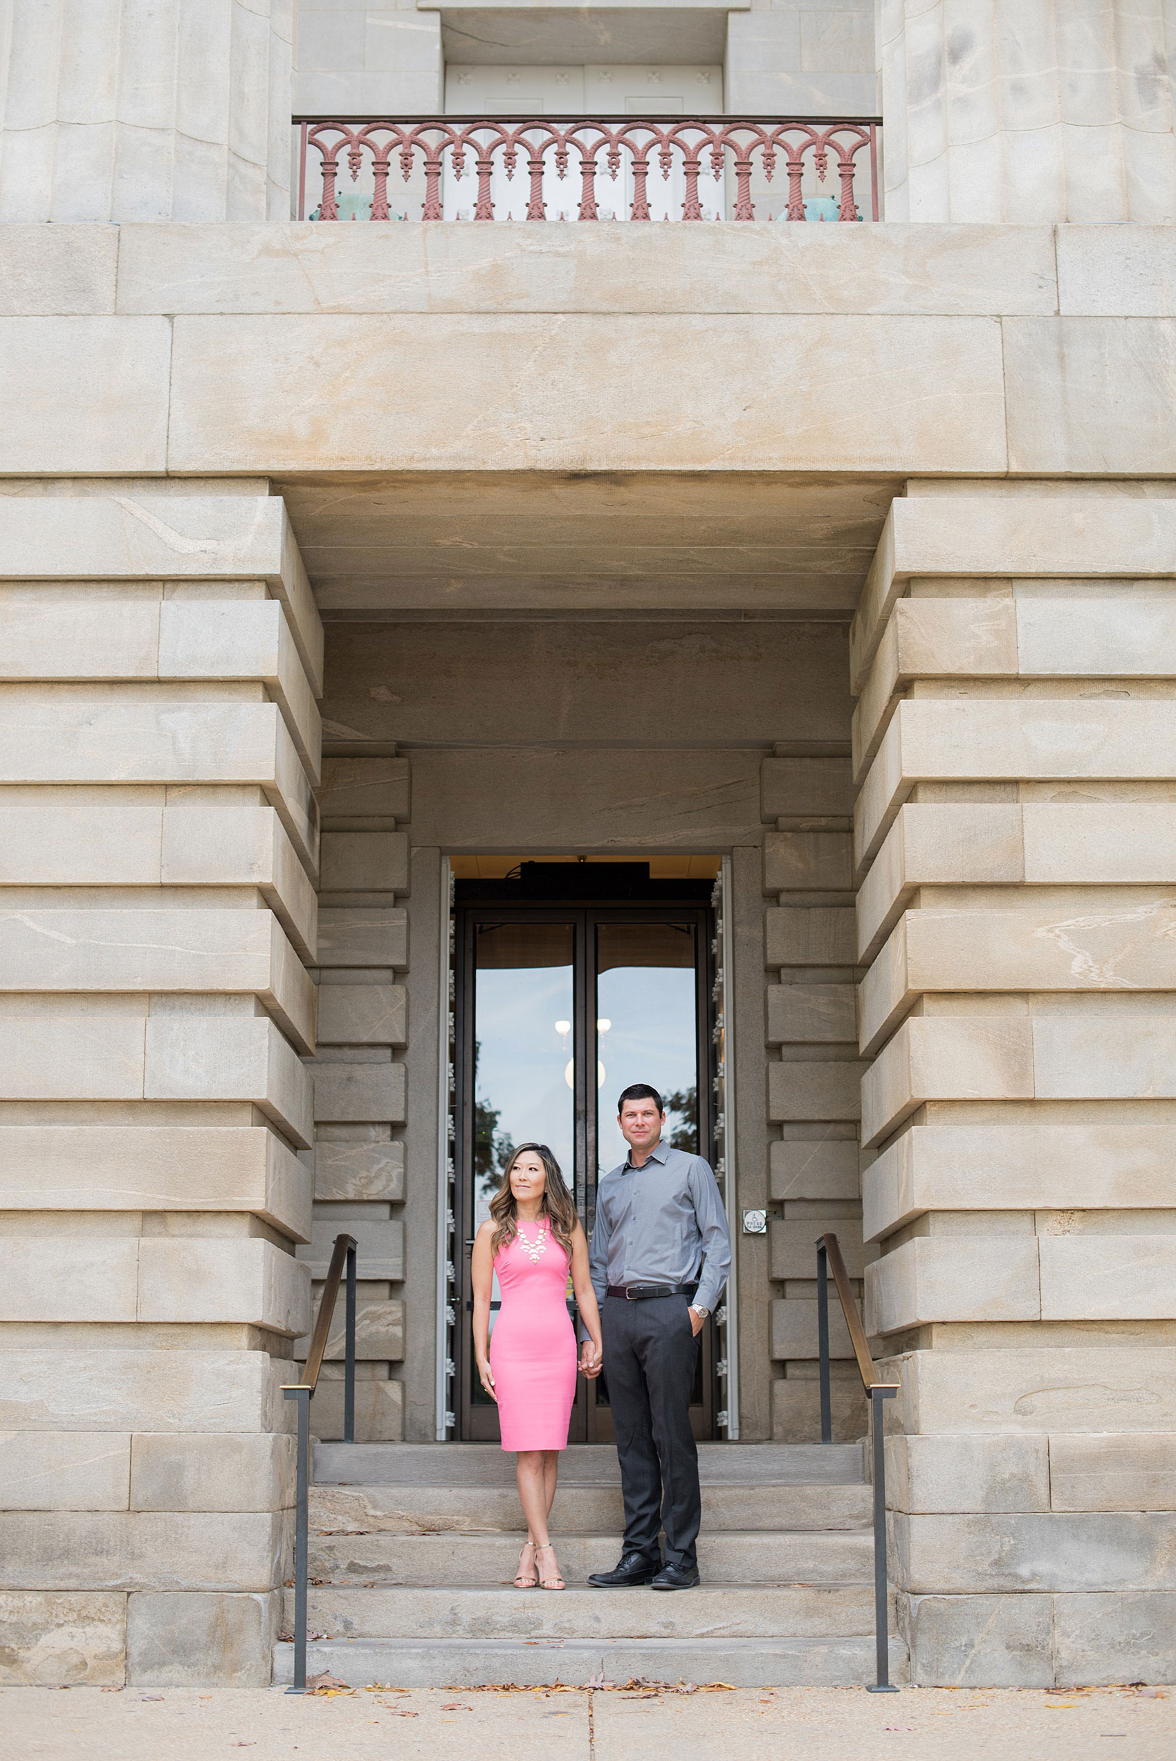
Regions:
[[[697, 1592], [692, 1592], [697, 1594]], [[891, 1639], [891, 1682], [907, 1682], [907, 1650]], [[542, 1687], [643, 1675], [655, 1682], [729, 1682], [732, 1687], [864, 1687], [873, 1682], [873, 1634], [769, 1639], [320, 1639], [306, 1673], [329, 1669], [352, 1687]], [[275, 1680], [294, 1678], [294, 1647], [275, 1648]]]

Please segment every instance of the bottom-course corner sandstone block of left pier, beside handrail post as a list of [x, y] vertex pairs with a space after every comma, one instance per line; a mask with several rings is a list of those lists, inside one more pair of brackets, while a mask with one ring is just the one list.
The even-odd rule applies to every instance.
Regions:
[[278, 1592], [139, 1590], [127, 1599], [132, 1687], [269, 1687]]

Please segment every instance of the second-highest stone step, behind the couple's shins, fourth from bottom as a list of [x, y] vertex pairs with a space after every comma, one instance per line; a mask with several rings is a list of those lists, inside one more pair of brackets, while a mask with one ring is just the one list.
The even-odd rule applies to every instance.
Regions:
[[[873, 1513], [866, 1485], [702, 1486], [702, 1530], [864, 1529]], [[338, 1486], [310, 1488], [310, 1527], [366, 1534], [521, 1534], [519, 1497], [511, 1486]], [[620, 1536], [625, 1509], [620, 1486], [560, 1483], [551, 1507], [553, 1534]]]

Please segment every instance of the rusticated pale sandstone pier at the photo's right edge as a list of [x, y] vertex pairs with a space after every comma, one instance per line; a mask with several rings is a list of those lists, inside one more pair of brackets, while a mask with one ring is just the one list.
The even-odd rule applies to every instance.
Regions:
[[1176, 498], [912, 484], [852, 630], [917, 1682], [1176, 1675]]

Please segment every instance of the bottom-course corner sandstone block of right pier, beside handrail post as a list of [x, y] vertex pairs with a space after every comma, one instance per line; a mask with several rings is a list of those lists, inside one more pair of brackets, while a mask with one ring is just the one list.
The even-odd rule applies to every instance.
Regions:
[[908, 1618], [919, 1687], [1053, 1687], [1051, 1595], [915, 1595]]

